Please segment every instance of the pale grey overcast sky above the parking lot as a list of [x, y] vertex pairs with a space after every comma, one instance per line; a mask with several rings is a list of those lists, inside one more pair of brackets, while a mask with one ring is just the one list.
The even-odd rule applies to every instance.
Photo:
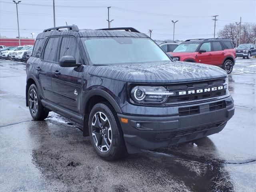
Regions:
[[[34, 37], [43, 29], [53, 27], [52, 0], [22, 0], [18, 4], [20, 36]], [[214, 33], [213, 15], [219, 15], [216, 32], [225, 24], [251, 22], [256, 24], [256, 0], [245, 1], [84, 1], [55, 0], [56, 26], [76, 24], [78, 28], [107, 28], [108, 9], [111, 27], [130, 26], [152, 38], [175, 39], [211, 38]], [[16, 6], [12, 0], [0, 0], [0, 35], [18, 36]]]

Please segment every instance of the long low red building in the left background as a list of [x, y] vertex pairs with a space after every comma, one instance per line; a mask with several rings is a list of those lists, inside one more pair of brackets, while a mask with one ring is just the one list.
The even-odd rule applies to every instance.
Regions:
[[[20, 38], [20, 45], [34, 45], [35, 40], [26, 38], [26, 37], [21, 37]], [[18, 46], [19, 45], [19, 39], [18, 38], [7, 38], [6, 36], [1, 36], [0, 37], [0, 45], [5, 45], [5, 46]]]

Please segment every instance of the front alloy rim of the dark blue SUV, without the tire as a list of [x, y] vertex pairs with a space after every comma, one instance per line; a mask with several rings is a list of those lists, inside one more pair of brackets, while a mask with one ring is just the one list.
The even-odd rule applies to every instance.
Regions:
[[92, 138], [101, 152], [107, 152], [112, 143], [112, 130], [107, 116], [96, 112], [92, 118]]

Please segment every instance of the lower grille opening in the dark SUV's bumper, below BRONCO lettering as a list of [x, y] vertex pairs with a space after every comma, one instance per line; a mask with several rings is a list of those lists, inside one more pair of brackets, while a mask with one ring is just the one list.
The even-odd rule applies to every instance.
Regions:
[[204, 104], [201, 106], [190, 106], [190, 107], [182, 107], [179, 108], [179, 116], [188, 116], [188, 115], [194, 115], [194, 114], [200, 114], [202, 112], [210, 112], [210, 111], [216, 111], [220, 109], [226, 108], [226, 102], [220, 101], [210, 104]]

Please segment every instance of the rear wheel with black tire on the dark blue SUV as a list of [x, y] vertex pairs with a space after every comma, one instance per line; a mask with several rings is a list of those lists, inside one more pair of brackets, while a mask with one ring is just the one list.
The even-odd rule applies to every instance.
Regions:
[[49, 110], [42, 106], [40, 94], [35, 84], [30, 85], [27, 94], [28, 107], [32, 118], [34, 120], [44, 120], [48, 116]]

